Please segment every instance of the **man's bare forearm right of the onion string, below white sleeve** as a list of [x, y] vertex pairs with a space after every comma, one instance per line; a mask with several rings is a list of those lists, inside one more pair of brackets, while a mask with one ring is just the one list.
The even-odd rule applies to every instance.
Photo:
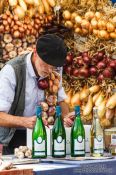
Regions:
[[69, 107], [68, 104], [65, 103], [64, 101], [59, 102], [59, 105], [61, 106], [62, 109], [62, 116], [63, 118], [69, 113]]

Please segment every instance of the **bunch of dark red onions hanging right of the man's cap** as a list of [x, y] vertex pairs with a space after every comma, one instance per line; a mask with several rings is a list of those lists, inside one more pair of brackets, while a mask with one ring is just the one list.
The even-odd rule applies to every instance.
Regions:
[[75, 57], [68, 53], [64, 72], [76, 78], [97, 77], [98, 81], [112, 79], [116, 76], [116, 60], [108, 57], [104, 51], [98, 51], [92, 57], [88, 51]]

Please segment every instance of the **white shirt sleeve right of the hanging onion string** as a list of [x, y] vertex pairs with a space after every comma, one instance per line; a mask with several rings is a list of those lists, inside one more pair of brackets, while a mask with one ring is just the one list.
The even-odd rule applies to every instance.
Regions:
[[62, 70], [63, 70], [63, 68], [61, 67], [60, 71], [59, 71], [60, 76], [61, 76], [61, 80], [60, 80], [60, 87], [59, 87], [59, 91], [58, 91], [58, 102], [63, 101], [67, 98], [67, 95], [64, 91], [64, 88], [62, 87]]

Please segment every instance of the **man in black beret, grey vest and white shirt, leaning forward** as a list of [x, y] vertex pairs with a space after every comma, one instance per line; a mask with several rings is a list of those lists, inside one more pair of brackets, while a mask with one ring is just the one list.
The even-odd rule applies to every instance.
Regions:
[[[37, 86], [37, 78], [44, 78], [62, 66], [67, 54], [66, 46], [61, 38], [53, 34], [41, 36], [36, 50], [9, 61], [0, 72], [0, 143], [9, 154], [9, 143], [16, 128], [33, 129], [36, 116], [35, 110], [39, 102], [44, 100], [44, 91]], [[66, 98], [62, 80], [58, 91], [58, 102], [63, 117], [69, 109], [64, 103]], [[23, 116], [23, 117], [21, 117]], [[70, 125], [72, 120], [65, 119]], [[19, 138], [16, 138], [19, 139]]]

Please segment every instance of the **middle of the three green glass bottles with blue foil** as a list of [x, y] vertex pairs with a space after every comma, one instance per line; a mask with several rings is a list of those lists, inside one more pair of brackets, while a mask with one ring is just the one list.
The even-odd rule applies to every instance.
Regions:
[[66, 133], [62, 122], [61, 107], [56, 106], [56, 120], [52, 129], [52, 157], [66, 156]]

